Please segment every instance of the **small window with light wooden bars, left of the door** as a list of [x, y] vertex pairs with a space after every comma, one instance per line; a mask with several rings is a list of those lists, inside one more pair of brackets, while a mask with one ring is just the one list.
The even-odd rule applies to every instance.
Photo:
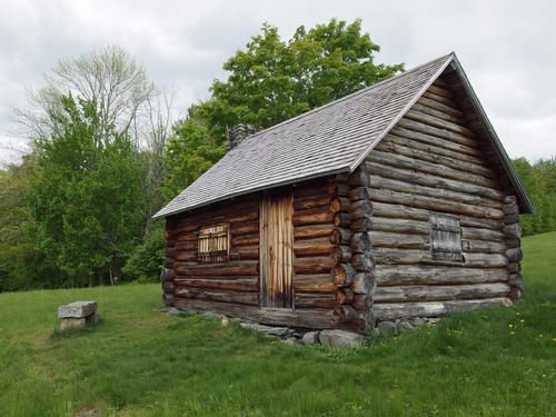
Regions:
[[227, 261], [230, 254], [229, 230], [228, 224], [201, 227], [197, 260], [201, 264]]

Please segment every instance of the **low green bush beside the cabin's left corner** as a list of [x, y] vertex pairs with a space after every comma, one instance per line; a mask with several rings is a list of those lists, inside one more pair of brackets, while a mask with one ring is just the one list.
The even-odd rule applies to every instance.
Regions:
[[131, 251], [122, 272], [126, 279], [143, 282], [159, 279], [165, 258], [165, 222], [157, 221], [143, 236], [143, 241]]

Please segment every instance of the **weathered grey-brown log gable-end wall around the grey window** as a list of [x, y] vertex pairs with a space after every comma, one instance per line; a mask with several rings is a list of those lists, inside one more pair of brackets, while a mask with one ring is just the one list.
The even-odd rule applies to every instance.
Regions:
[[[519, 256], [508, 260], [504, 230], [512, 208], [508, 183], [488, 157], [450, 78], [439, 79], [376, 147], [365, 165], [373, 203], [369, 232], [378, 285], [379, 320], [438, 317], [458, 308], [518, 298]], [[459, 218], [464, 262], [439, 261], [430, 252], [429, 215]], [[508, 245], [508, 242], [510, 242]]]

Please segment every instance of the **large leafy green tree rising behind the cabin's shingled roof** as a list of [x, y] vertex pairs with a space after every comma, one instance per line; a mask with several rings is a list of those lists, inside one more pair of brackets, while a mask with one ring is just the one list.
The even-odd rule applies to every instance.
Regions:
[[211, 99], [197, 110], [216, 140], [238, 122], [270, 127], [403, 70], [376, 64], [379, 49], [360, 20], [301, 26], [287, 42], [266, 23], [224, 63], [228, 79], [215, 80]]

